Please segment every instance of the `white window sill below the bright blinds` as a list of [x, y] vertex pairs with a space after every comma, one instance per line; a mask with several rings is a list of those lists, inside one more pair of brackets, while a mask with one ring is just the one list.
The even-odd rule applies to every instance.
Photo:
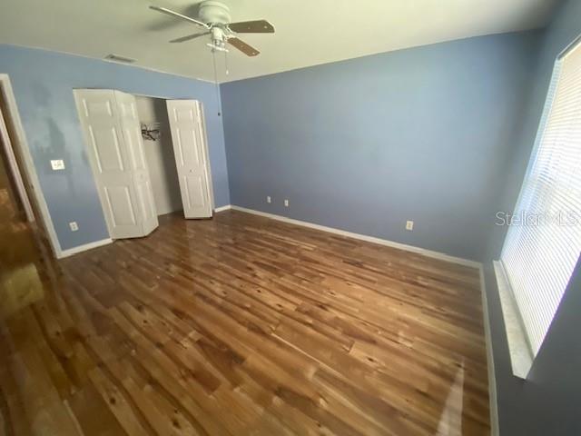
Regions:
[[516, 377], [527, 379], [528, 372], [533, 365], [533, 355], [528, 347], [525, 330], [520, 321], [517, 310], [517, 302], [510, 290], [510, 284], [505, 274], [502, 263], [494, 262], [494, 271], [497, 276], [498, 294], [502, 306], [502, 316], [507, 330], [508, 351], [510, 352], [510, 364]]

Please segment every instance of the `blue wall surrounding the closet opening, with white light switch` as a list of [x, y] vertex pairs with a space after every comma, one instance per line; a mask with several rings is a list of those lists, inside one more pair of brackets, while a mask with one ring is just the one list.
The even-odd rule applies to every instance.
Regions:
[[[73, 88], [117, 89], [165, 98], [195, 98], [205, 106], [216, 206], [230, 203], [222, 117], [213, 84], [69, 54], [0, 45], [0, 73], [10, 76], [48, 209], [63, 249], [107, 238], [87, 161]], [[51, 159], [64, 159], [54, 172]], [[76, 221], [72, 233], [68, 223]]]

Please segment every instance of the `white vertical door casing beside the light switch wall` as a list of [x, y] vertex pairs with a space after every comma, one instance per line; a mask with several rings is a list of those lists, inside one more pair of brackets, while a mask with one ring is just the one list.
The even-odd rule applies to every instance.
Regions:
[[48, 205], [44, 199], [43, 190], [38, 181], [38, 175], [36, 174], [36, 169], [34, 168], [34, 161], [32, 154], [30, 154], [30, 149], [28, 148], [28, 143], [26, 142], [25, 129], [23, 128], [22, 121], [20, 120], [20, 114], [18, 112], [18, 106], [16, 105], [15, 93], [12, 89], [12, 84], [10, 83], [10, 78], [8, 74], [0, 74], [0, 91], [3, 92], [5, 97], [5, 104], [8, 107], [9, 116], [15, 125], [15, 144], [14, 147], [18, 147], [18, 151], [23, 157], [23, 163], [25, 165], [25, 174], [27, 177], [27, 182], [30, 183], [32, 191], [34, 193], [34, 199], [39, 208], [39, 213], [42, 215], [41, 219], [44, 223], [44, 228], [48, 236], [48, 241], [51, 244], [53, 253], [56, 257], [62, 257], [61, 244], [58, 242], [58, 237], [54, 230], [53, 220], [51, 214], [48, 212]]

